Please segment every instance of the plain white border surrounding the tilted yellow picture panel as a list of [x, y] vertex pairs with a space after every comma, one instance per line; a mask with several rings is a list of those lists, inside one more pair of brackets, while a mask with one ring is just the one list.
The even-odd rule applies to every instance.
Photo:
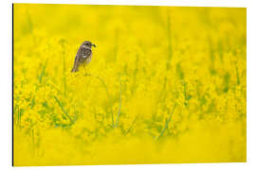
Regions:
[[1, 2], [0, 52], [0, 169], [11, 167], [11, 3], [154, 5], [247, 8], [247, 163], [97, 165], [20, 167], [18, 169], [256, 169], [256, 8], [254, 0], [6, 0]]

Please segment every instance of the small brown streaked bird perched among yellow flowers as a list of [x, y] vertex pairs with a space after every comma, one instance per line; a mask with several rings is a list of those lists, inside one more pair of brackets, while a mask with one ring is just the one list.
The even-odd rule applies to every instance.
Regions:
[[76, 54], [74, 66], [73, 66], [71, 72], [78, 72], [79, 67], [81, 65], [83, 65], [83, 67], [84, 67], [91, 61], [91, 59], [92, 59], [91, 47], [92, 46], [96, 47], [96, 45], [92, 42], [89, 42], [89, 41], [82, 42], [82, 45], [80, 46], [80, 48]]

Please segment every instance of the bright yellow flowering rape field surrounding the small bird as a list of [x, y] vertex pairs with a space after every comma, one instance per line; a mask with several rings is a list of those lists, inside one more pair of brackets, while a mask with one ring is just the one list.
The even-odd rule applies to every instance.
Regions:
[[246, 8], [13, 10], [14, 166], [247, 161]]

